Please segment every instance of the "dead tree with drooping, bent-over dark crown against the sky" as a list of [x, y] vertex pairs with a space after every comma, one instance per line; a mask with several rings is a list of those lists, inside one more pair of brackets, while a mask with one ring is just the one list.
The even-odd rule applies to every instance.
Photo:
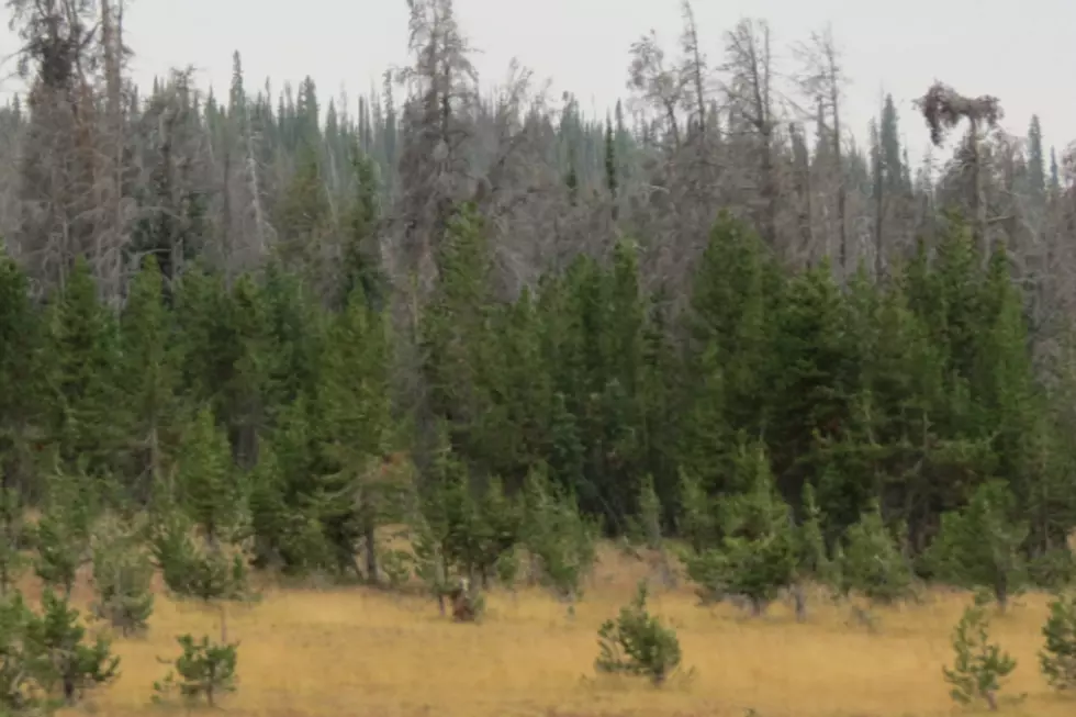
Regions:
[[916, 104], [927, 121], [930, 141], [935, 146], [941, 146], [946, 132], [957, 126], [961, 120], [967, 120], [969, 126], [966, 152], [972, 169], [973, 232], [984, 256], [989, 256], [991, 247], [987, 237], [985, 170], [979, 133], [984, 127], [997, 126], [1001, 119], [1002, 112], [998, 98], [990, 94], [977, 98], [964, 97], [948, 85], [934, 82], [923, 97], [916, 100]]

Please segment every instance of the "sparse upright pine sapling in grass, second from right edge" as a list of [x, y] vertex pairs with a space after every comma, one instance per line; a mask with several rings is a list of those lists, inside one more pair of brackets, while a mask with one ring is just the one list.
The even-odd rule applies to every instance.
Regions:
[[942, 672], [953, 686], [950, 695], [954, 701], [968, 705], [983, 699], [990, 712], [996, 712], [1001, 680], [1012, 673], [1017, 662], [1002, 652], [1000, 646], [989, 641], [986, 602], [982, 595], [976, 596], [975, 604], [964, 610], [953, 630], [955, 662], [952, 669], [943, 666]]

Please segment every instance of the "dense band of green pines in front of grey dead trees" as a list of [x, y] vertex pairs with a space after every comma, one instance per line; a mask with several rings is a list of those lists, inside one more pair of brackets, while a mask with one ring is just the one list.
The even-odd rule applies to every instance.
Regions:
[[[116, 314], [86, 262], [38, 304], [4, 259], [4, 485], [32, 502], [83, 475], [188, 506], [210, 539], [245, 522], [259, 564], [371, 578], [379, 526], [444, 523], [457, 500], [495, 519], [531, 479], [608, 535], [649, 512], [699, 554], [760, 474], [792, 523], [818, 511], [827, 554], [874, 513], [926, 554], [984, 486], [1027, 523], [1028, 559], [1076, 527], [1072, 357], [1035, 366], [1006, 249], [984, 261], [955, 215], [887, 281], [842, 288], [722, 214], [679, 313], [628, 239], [500, 300], [487, 235], [455, 212], [411, 340], [376, 289], [326, 309], [277, 265], [166, 284], [147, 256]], [[448, 485], [467, 490], [429, 498]]]

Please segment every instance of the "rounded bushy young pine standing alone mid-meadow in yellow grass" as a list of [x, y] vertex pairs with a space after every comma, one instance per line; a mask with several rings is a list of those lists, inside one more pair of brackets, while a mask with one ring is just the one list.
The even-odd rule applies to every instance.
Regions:
[[615, 620], [606, 620], [598, 630], [601, 653], [594, 669], [649, 677], [663, 684], [680, 666], [680, 640], [675, 630], [647, 612], [647, 584], [640, 581], [635, 600], [620, 608]]

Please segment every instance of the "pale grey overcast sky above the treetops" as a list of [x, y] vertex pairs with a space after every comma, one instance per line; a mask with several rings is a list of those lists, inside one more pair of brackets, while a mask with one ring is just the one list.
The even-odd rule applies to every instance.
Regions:
[[[125, 26], [139, 83], [192, 64], [203, 86], [222, 96], [232, 52], [242, 53], [248, 88], [271, 78], [274, 91], [305, 75], [323, 102], [347, 88], [352, 102], [390, 65], [406, 63], [405, 0], [127, 0]], [[860, 142], [892, 92], [901, 131], [918, 156], [927, 145], [911, 100], [935, 79], [965, 94], [990, 93], [1006, 111], [1004, 126], [1023, 135], [1032, 113], [1058, 150], [1076, 138], [1072, 33], [1076, 0], [695, 0], [700, 40], [720, 58], [722, 33], [742, 16], [770, 22], [784, 67], [788, 47], [832, 23], [852, 85], [845, 114]], [[519, 60], [556, 88], [571, 90], [584, 110], [625, 97], [628, 47], [653, 27], [675, 52], [680, 0], [456, 0], [475, 48], [483, 81]], [[8, 38], [14, 47], [14, 38]], [[3, 53], [7, 55], [8, 53]], [[10, 89], [9, 87], [4, 89]]]

